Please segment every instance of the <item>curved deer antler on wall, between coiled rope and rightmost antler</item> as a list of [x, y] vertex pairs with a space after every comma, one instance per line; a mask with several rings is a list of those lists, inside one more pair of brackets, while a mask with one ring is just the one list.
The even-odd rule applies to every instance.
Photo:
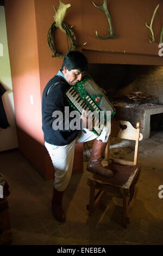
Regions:
[[101, 37], [101, 36], [97, 33], [97, 31], [96, 31], [97, 37], [98, 37], [99, 39], [115, 38], [116, 35], [115, 35], [115, 32], [114, 32], [114, 29], [113, 29], [113, 26], [112, 26], [111, 17], [110, 17], [108, 8], [107, 8], [107, 0], [104, 0], [104, 3], [103, 3], [102, 6], [98, 6], [98, 5], [96, 5], [95, 3], [93, 3], [93, 2], [92, 2], [92, 4], [93, 4], [96, 8], [98, 8], [98, 9], [100, 9], [100, 10], [102, 10], [102, 11], [104, 12], [104, 14], [106, 15], [106, 17], [107, 17], [107, 19], [108, 19], [108, 21], [109, 21], [109, 25], [110, 25], [110, 28], [108, 29], [108, 31], [110, 32], [109, 35], [106, 35], [106, 37]]

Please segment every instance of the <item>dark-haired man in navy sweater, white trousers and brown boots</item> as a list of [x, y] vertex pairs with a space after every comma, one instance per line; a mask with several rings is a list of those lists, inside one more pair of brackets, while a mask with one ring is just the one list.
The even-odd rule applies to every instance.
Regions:
[[[76, 129], [70, 125], [73, 120], [71, 112], [74, 111], [74, 108], [65, 97], [65, 92], [82, 81], [87, 70], [88, 62], [82, 52], [68, 52], [61, 70], [49, 80], [42, 94], [42, 130], [45, 137], [45, 146], [55, 169], [52, 212], [53, 216], [60, 222], [65, 222], [62, 198], [71, 178], [76, 143], [94, 140], [87, 170], [106, 177], [113, 175], [111, 170], [101, 164], [110, 135], [110, 122], [103, 126], [99, 135], [95, 134], [89, 125], [89, 123], [93, 123], [92, 126], [95, 126], [95, 120], [90, 122], [92, 120], [87, 115], [86, 106], [80, 111], [80, 115], [77, 115], [76, 122], [73, 122], [79, 124]], [[98, 97], [97, 100], [99, 100]], [[80, 105], [84, 104], [81, 103]], [[68, 109], [70, 113], [68, 117], [65, 109]], [[57, 124], [55, 121], [61, 124], [58, 128], [55, 126]]]

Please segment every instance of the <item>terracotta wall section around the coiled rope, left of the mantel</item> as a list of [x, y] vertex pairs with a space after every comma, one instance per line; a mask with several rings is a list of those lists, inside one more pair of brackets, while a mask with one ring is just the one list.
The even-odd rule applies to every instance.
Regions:
[[[65, 4], [71, 2], [71, 7], [67, 9], [67, 14], [65, 16], [65, 21], [69, 25], [74, 25], [74, 29], [78, 33], [82, 31], [81, 20], [80, 20], [80, 10], [81, 1], [62, 1]], [[41, 93], [43, 88], [47, 84], [47, 81], [52, 78], [58, 70], [61, 68], [63, 59], [59, 57], [52, 58], [53, 52], [49, 49], [47, 44], [47, 33], [48, 29], [54, 22], [55, 11], [53, 5], [56, 8], [59, 7], [59, 1], [57, 0], [35, 0], [35, 15], [36, 15], [36, 29], [37, 29], [37, 44], [39, 52], [39, 68], [40, 68], [40, 87]], [[75, 15], [74, 15], [75, 13]], [[68, 51], [66, 43], [66, 34], [61, 32], [60, 29], [55, 29], [54, 31], [54, 45], [58, 52], [66, 53]]]

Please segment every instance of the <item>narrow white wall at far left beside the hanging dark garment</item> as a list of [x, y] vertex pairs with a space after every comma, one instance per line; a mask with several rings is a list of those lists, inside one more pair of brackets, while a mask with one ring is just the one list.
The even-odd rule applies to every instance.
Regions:
[[2, 100], [5, 114], [7, 115], [8, 122], [10, 124], [10, 127], [7, 129], [2, 129], [0, 127], [0, 151], [4, 151], [18, 147], [18, 144], [15, 126], [14, 98], [12, 93], [5, 12], [3, 6], [0, 6], [0, 35], [0, 82], [5, 90], [7, 90], [3, 94]]

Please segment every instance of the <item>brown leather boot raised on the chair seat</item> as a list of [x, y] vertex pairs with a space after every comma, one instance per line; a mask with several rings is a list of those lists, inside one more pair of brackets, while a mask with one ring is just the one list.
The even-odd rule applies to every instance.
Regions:
[[105, 152], [107, 142], [102, 142], [95, 140], [93, 143], [91, 157], [87, 164], [87, 171], [97, 172], [105, 177], [112, 177], [113, 172], [102, 166], [101, 161], [103, 159], [103, 154]]

